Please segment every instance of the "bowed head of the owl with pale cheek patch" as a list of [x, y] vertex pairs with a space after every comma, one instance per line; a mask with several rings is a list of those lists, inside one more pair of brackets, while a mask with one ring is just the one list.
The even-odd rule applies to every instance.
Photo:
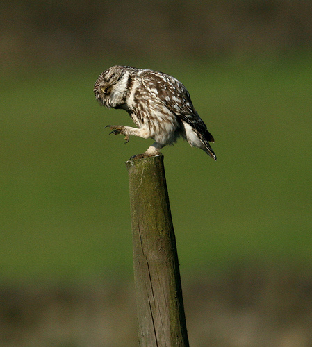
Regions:
[[115, 65], [103, 71], [95, 82], [95, 97], [106, 108], [120, 108], [126, 102], [131, 68]]

